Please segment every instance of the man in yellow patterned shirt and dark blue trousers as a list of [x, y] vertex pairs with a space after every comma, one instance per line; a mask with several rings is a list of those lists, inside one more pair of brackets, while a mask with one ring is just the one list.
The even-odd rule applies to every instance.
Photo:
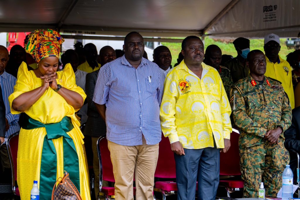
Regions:
[[[215, 199], [220, 151], [230, 148], [229, 101], [219, 73], [204, 64], [199, 37], [182, 41], [183, 61], [164, 83], [161, 129], [169, 137], [176, 162], [178, 199]], [[220, 149], [220, 150], [219, 150]]]

